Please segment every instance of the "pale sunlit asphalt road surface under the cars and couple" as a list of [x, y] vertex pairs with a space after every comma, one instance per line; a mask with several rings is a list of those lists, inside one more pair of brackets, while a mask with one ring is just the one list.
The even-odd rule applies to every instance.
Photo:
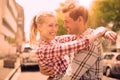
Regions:
[[[46, 80], [47, 77], [48, 76], [42, 75], [39, 71], [21, 72], [19, 69], [11, 80]], [[120, 80], [120, 79], [104, 76], [103, 80]]]

